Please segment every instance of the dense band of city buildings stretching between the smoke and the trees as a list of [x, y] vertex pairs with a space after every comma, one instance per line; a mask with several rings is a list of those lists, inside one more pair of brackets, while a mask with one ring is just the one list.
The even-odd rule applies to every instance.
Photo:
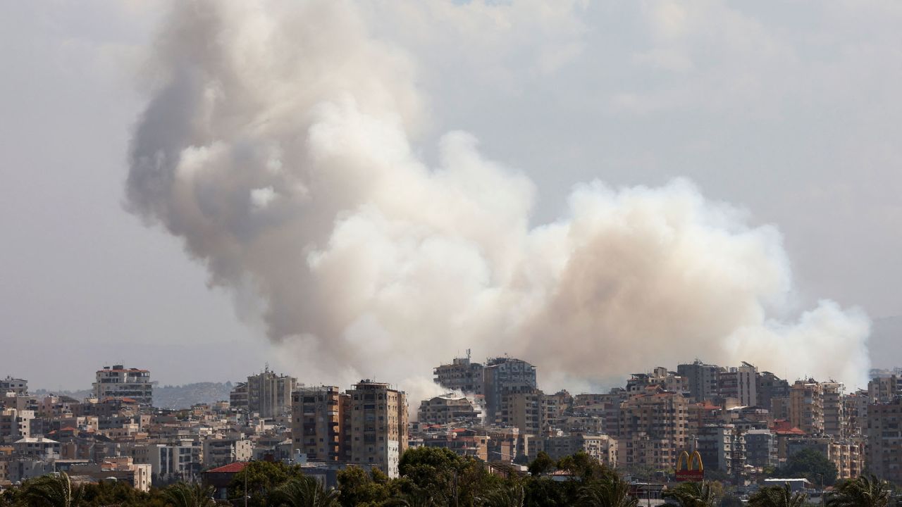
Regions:
[[234, 384], [228, 400], [181, 410], [152, 407], [150, 373], [122, 365], [98, 371], [83, 400], [32, 394], [25, 379], [6, 377], [0, 486], [67, 471], [146, 489], [259, 459], [333, 480], [350, 465], [394, 477], [409, 447], [444, 447], [502, 470], [539, 453], [583, 452], [661, 482], [681, 453], [698, 451], [705, 474], [730, 484], [761, 482], [804, 451], [823, 455], [840, 479], [867, 470], [902, 484], [897, 372], [846, 392], [829, 379], [790, 383], [753, 364], [699, 360], [650, 367], [605, 392], [552, 394], [539, 389], [532, 364], [474, 363], [467, 351], [433, 373], [449, 392], [409, 401], [389, 383], [307, 387], [266, 367]]

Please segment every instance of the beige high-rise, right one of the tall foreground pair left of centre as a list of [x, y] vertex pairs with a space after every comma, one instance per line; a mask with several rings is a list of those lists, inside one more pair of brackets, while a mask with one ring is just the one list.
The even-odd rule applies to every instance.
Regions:
[[400, 456], [407, 450], [407, 394], [387, 383], [363, 380], [350, 395], [351, 462], [379, 466], [398, 476]]

